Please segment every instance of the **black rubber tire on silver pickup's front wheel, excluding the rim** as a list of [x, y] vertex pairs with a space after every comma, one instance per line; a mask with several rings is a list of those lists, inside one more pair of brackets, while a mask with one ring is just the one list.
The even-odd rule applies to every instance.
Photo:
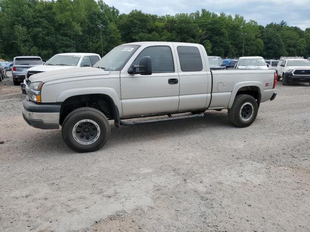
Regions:
[[[92, 144], [81, 144], [81, 141], [79, 141], [77, 136], [76, 138], [74, 136], [74, 128], [81, 120], [91, 120], [97, 124], [96, 126], [99, 127], [99, 130], [97, 130], [97, 134], [99, 134], [98, 138]], [[76, 130], [77, 129], [78, 128], [76, 127]], [[84, 131], [82, 132], [84, 133]], [[91, 107], [82, 107], [70, 112], [62, 123], [62, 138], [65, 144], [77, 152], [96, 151], [106, 144], [109, 136], [110, 125], [108, 118], [101, 111]]]

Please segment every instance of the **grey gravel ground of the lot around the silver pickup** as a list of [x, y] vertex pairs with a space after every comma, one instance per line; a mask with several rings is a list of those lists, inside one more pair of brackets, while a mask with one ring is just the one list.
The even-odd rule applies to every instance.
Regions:
[[[111, 128], [78, 154], [0, 82], [0, 231], [310, 231], [310, 86], [278, 85], [248, 128], [227, 111]], [[112, 124], [111, 124], [112, 125]]]

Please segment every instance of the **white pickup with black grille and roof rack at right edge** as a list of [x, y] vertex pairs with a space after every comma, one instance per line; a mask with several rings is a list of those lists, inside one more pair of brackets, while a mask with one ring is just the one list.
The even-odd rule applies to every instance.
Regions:
[[310, 61], [299, 57], [283, 58], [277, 66], [277, 73], [279, 78], [282, 77], [283, 86], [291, 82], [310, 83]]

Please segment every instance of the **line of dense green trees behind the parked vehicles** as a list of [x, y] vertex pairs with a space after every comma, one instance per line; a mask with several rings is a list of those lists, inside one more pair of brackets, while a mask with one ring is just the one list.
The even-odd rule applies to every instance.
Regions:
[[103, 0], [0, 0], [0, 58], [57, 53], [108, 53], [121, 43], [171, 41], [201, 43], [213, 56], [310, 57], [310, 28], [286, 22], [263, 27], [241, 15], [205, 9], [159, 16], [133, 10], [120, 14]]

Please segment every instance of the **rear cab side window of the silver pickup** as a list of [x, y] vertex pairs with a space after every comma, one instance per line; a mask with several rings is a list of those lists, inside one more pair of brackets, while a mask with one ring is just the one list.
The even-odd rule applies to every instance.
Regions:
[[182, 72], [202, 71], [202, 57], [198, 47], [178, 46], [177, 51]]

